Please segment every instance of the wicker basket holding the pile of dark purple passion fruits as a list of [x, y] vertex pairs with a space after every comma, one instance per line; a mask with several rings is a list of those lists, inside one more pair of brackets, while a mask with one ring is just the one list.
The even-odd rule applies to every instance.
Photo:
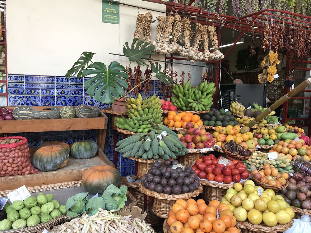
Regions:
[[159, 217], [167, 218], [169, 211], [172, 209], [172, 206], [176, 202], [177, 199], [187, 200], [191, 197], [197, 197], [200, 193], [202, 193], [203, 187], [200, 187], [195, 190], [193, 193], [184, 193], [179, 195], [174, 194], [163, 194], [157, 193], [154, 191], [150, 191], [146, 189], [142, 183], [139, 184], [139, 190], [141, 190], [147, 196], [154, 197], [152, 211]]

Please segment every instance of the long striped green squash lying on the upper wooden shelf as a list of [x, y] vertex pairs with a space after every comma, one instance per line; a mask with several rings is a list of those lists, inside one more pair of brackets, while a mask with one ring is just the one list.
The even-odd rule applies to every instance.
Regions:
[[60, 118], [59, 108], [53, 107], [51, 111], [40, 111], [26, 105], [20, 105], [13, 109], [14, 119], [57, 119]]

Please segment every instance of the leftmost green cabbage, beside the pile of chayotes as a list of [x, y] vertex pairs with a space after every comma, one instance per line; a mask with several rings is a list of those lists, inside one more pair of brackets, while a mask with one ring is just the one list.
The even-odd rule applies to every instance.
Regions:
[[85, 212], [85, 204], [87, 203], [88, 196], [89, 193], [78, 193], [68, 198], [66, 202], [67, 215], [73, 218]]

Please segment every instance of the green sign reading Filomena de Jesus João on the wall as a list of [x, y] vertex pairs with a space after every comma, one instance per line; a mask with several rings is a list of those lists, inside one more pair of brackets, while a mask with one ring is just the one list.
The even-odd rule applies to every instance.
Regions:
[[120, 15], [119, 15], [119, 7], [118, 3], [102, 0], [102, 22], [110, 23], [110, 24], [119, 24], [120, 23]]

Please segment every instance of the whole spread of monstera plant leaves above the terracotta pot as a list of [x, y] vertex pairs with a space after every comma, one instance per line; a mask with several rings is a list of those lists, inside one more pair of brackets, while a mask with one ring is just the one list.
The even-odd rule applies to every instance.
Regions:
[[[128, 42], [123, 45], [123, 53], [128, 57], [130, 64], [136, 62], [140, 66], [149, 66], [143, 60], [153, 60], [150, 57], [150, 55], [155, 54], [152, 52], [153, 50], [155, 50], [153, 44], [144, 41], [137, 42], [136, 38], [133, 39], [131, 47], [128, 46]], [[68, 70], [66, 78], [70, 79], [76, 75], [77, 79], [89, 76], [84, 81], [85, 89], [91, 97], [94, 96], [95, 100], [101, 103], [112, 103], [117, 98], [125, 97], [125, 90], [128, 88], [128, 73], [125, 67], [116, 61], [111, 62], [108, 68], [102, 62], [92, 62], [94, 54], [83, 52], [78, 61]], [[142, 82], [156, 77], [165, 84], [174, 83], [174, 80], [161, 71], [161, 65], [158, 62], [152, 63], [151, 70], [155, 76], [149, 77]], [[133, 87], [129, 92], [137, 86]]]

